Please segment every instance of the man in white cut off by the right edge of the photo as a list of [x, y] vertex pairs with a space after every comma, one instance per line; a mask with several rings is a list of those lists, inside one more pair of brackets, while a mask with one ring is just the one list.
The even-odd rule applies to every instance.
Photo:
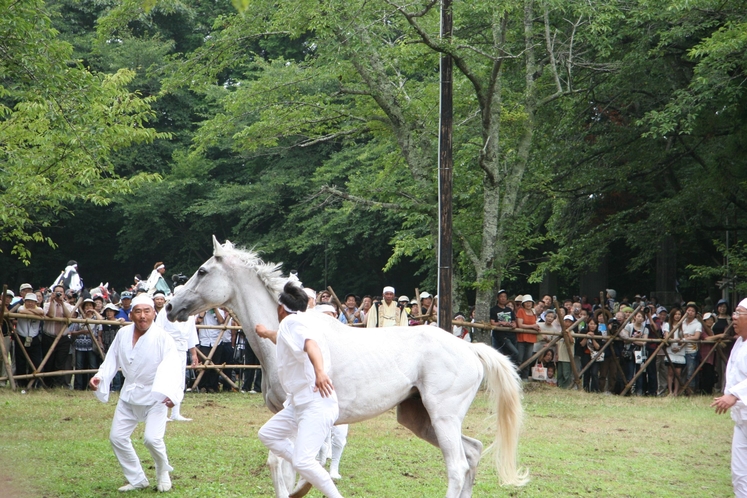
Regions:
[[737, 498], [747, 498], [747, 299], [732, 315], [737, 340], [726, 366], [724, 395], [711, 404], [716, 413], [731, 409], [734, 435], [731, 442], [731, 482]]

